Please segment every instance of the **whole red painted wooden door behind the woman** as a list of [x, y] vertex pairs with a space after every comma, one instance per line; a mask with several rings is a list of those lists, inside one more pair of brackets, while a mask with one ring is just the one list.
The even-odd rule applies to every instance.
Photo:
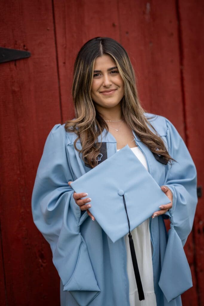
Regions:
[[[43, 145], [56, 123], [74, 116], [73, 64], [96, 36], [119, 41], [135, 68], [143, 107], [169, 118], [190, 150], [203, 185], [202, 1], [0, 0], [0, 47], [31, 57], [0, 64], [1, 305], [59, 305], [51, 251], [35, 228], [31, 194]], [[185, 245], [194, 286], [183, 305], [204, 304], [203, 198]]]

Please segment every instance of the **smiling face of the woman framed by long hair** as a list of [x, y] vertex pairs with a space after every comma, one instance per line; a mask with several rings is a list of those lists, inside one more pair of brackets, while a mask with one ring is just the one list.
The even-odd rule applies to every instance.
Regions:
[[114, 107], [120, 103], [123, 96], [124, 83], [116, 64], [109, 55], [98, 57], [91, 86], [91, 98], [95, 106]]

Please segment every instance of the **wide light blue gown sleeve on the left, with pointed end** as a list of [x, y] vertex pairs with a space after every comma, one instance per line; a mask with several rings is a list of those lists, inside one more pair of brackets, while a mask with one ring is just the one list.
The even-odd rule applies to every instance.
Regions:
[[66, 132], [55, 125], [46, 139], [32, 193], [35, 225], [50, 244], [53, 263], [64, 291], [80, 305], [87, 305], [100, 292], [80, 234], [80, 207], [73, 198], [73, 181], [66, 154]]

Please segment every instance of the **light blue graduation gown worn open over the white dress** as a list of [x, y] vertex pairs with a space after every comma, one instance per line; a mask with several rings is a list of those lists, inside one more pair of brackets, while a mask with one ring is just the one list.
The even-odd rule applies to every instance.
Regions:
[[[146, 116], [149, 118], [152, 114]], [[158, 185], [168, 186], [173, 193], [172, 208], [165, 215], [177, 233], [177, 243], [168, 240], [163, 216], [150, 218], [154, 290], [158, 306], [180, 306], [183, 288], [174, 291], [178, 297], [168, 302], [173, 284], [172, 278], [168, 278], [167, 262], [171, 262], [166, 250], [169, 242], [170, 252], [176, 253], [177, 244], [181, 245], [178, 238], [184, 245], [191, 232], [197, 204], [196, 169], [172, 123], [161, 116], [149, 120], [177, 161], [172, 166], [158, 162], [132, 131], [136, 145], [147, 159], [149, 173]], [[98, 137], [98, 142], [106, 142], [109, 158], [117, 152], [117, 143], [106, 132]], [[61, 306], [129, 306], [124, 238], [113, 243], [87, 212], [81, 214], [73, 199], [73, 189], [68, 185], [68, 181], [75, 181], [90, 171], [73, 146], [75, 139], [76, 135], [65, 132], [64, 125], [60, 124], [48, 135], [33, 188], [33, 220], [52, 250], [53, 263], [61, 278]], [[76, 145], [81, 148], [79, 140]], [[162, 275], [166, 275], [165, 285]], [[185, 281], [184, 277], [180, 275], [181, 282]]]

